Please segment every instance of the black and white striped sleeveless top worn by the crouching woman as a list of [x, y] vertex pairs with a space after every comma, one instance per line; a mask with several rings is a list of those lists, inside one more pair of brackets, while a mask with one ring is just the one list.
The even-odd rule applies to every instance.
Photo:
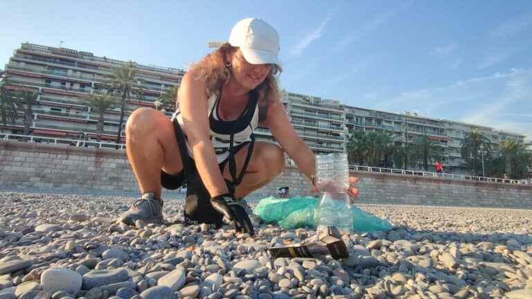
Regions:
[[[258, 95], [256, 91], [249, 92], [247, 106], [236, 120], [220, 120], [218, 111], [220, 106], [220, 93], [209, 96], [207, 101], [207, 115], [209, 116], [209, 127], [211, 128], [211, 141], [218, 163], [222, 163], [229, 156], [231, 145], [231, 135], [233, 135], [233, 147], [247, 141], [251, 141], [251, 134], [258, 127]], [[183, 127], [183, 118], [179, 109], [175, 111], [174, 118]], [[192, 148], [186, 143], [188, 155], [194, 158]]]

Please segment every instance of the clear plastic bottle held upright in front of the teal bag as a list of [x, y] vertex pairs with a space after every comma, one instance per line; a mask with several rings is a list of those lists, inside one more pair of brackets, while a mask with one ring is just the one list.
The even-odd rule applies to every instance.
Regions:
[[349, 205], [349, 166], [347, 154], [317, 156], [317, 181], [322, 192], [319, 202], [319, 226], [336, 226], [343, 233], [353, 231]]

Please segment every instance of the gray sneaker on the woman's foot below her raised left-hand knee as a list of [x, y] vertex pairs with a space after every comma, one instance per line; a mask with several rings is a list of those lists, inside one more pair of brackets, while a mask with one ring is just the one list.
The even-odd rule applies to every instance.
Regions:
[[152, 192], [144, 193], [141, 199], [135, 201], [130, 210], [120, 217], [120, 220], [129, 226], [134, 226], [136, 220], [142, 220], [147, 224], [162, 224], [163, 200], [156, 199]]

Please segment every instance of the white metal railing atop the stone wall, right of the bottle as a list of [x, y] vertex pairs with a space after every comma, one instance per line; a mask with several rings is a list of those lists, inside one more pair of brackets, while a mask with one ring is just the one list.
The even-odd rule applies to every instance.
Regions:
[[426, 172], [424, 170], [401, 170], [401, 169], [395, 169], [395, 168], [372, 167], [372, 166], [364, 166], [364, 165], [349, 165], [349, 170], [366, 171], [366, 172], [382, 172], [382, 173], [388, 173], [388, 174], [404, 174], [404, 175], [411, 175], [411, 176], [428, 176], [428, 177], [438, 177], [438, 178], [456, 179], [456, 180], [465, 180], [465, 181], [481, 181], [481, 182], [486, 182], [486, 183], [511, 183], [511, 184], [519, 184], [519, 185], [532, 185], [532, 181], [526, 180], [526, 179], [522, 179], [522, 180], [502, 179], [502, 178], [494, 178], [494, 177], [488, 177], [488, 176], [448, 174], [445, 172], [441, 172], [441, 173]]

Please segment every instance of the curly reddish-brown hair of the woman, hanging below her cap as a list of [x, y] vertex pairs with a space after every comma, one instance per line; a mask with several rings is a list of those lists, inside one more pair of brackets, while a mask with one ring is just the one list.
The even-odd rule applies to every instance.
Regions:
[[[229, 43], [224, 43], [213, 53], [207, 54], [202, 60], [190, 66], [189, 71], [197, 74], [196, 80], [204, 80], [207, 87], [207, 94], [218, 92], [222, 86], [229, 82], [231, 73], [225, 66], [225, 57], [229, 53], [235, 53], [238, 47], [233, 47]], [[258, 105], [260, 110], [265, 111], [265, 107], [272, 102], [274, 98], [280, 98], [281, 94], [278, 89], [277, 78], [275, 73], [278, 71], [276, 66], [272, 67], [265, 80], [256, 87], [258, 92]], [[261, 120], [265, 120], [264, 117]]]

